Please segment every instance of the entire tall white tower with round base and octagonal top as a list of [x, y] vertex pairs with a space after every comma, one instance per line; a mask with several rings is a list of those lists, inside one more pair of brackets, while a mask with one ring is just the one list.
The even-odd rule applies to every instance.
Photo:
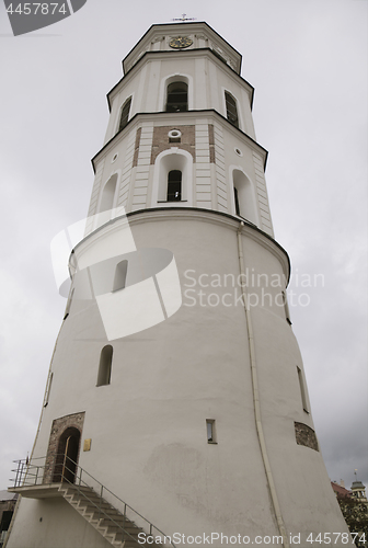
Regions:
[[8, 546], [346, 546], [241, 56], [153, 25], [123, 68]]

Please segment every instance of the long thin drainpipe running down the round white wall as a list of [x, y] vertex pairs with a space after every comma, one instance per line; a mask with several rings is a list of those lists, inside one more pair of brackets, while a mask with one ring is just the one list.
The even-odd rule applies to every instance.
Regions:
[[[244, 256], [243, 256], [243, 247], [242, 247], [242, 240], [241, 240], [241, 233], [242, 233], [243, 226], [244, 226], [244, 222], [241, 221], [239, 225], [239, 228], [238, 228], [238, 232], [237, 232], [241, 279], [245, 279]], [[278, 530], [284, 539], [283, 546], [284, 546], [284, 548], [289, 548], [289, 543], [288, 543], [286, 528], [285, 528], [284, 520], [283, 520], [283, 514], [281, 514], [281, 510], [279, 506], [279, 502], [278, 502], [278, 498], [277, 498], [277, 493], [276, 493], [276, 488], [275, 488], [274, 478], [273, 478], [273, 473], [272, 473], [271, 466], [269, 466], [267, 448], [266, 448], [266, 443], [265, 443], [264, 433], [263, 433], [260, 393], [258, 393], [257, 369], [256, 369], [254, 338], [253, 338], [253, 326], [252, 326], [251, 309], [249, 306], [249, 299], [248, 299], [244, 284], [241, 284], [241, 292], [242, 292], [242, 297], [243, 297], [242, 300], [243, 300], [245, 320], [246, 320], [246, 334], [248, 334], [249, 352], [250, 352], [250, 361], [251, 361], [253, 406], [254, 406], [254, 418], [255, 418], [256, 433], [257, 433], [257, 437], [258, 437], [262, 460], [263, 460], [263, 465], [264, 465], [265, 472], [266, 472], [268, 489], [271, 492], [271, 499], [273, 502], [273, 507], [274, 507], [274, 512], [275, 512], [275, 517], [276, 517]]]

